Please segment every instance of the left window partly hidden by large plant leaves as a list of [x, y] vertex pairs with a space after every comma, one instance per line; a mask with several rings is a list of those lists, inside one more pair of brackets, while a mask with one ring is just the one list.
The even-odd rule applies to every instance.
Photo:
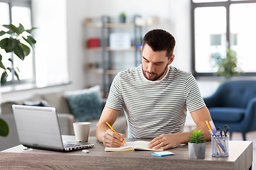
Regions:
[[[31, 0], [0, 0], [0, 26], [3, 24], [12, 23], [14, 26], [18, 26], [21, 23], [25, 29], [32, 28], [32, 19], [31, 19]], [[5, 28], [0, 27], [0, 30]], [[26, 42], [25, 42], [26, 43]], [[9, 84], [18, 84], [18, 83], [28, 83], [35, 81], [35, 67], [34, 67], [34, 56], [31, 50], [31, 53], [25, 57], [25, 60], [21, 61], [15, 54], [5, 53], [4, 50], [1, 50], [3, 55], [3, 62], [6, 67], [18, 67], [19, 69], [19, 79], [18, 81], [14, 76], [14, 73], [9, 74], [7, 82], [5, 85]], [[8, 59], [11, 58], [14, 61], [14, 64], [11, 65], [11, 62]]]

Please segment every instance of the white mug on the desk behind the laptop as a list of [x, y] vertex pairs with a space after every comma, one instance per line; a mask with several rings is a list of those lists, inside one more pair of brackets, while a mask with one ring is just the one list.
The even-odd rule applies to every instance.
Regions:
[[77, 142], [87, 142], [90, 132], [89, 122], [73, 123], [75, 140]]

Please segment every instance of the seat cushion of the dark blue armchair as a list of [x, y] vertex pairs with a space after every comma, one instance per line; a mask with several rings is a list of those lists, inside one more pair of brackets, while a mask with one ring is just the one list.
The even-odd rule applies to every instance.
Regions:
[[238, 123], [245, 115], [244, 108], [209, 108], [213, 122]]

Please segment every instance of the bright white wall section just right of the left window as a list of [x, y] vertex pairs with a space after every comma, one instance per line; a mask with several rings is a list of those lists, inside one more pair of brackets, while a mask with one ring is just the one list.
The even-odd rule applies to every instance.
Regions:
[[68, 77], [67, 10], [63, 0], [33, 0], [36, 43], [36, 83], [62, 84]]

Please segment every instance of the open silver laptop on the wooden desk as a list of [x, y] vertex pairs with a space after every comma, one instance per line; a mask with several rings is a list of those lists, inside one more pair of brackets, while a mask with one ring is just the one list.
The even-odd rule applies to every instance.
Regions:
[[18, 139], [24, 147], [68, 152], [94, 147], [88, 142], [63, 142], [56, 109], [12, 105]]

